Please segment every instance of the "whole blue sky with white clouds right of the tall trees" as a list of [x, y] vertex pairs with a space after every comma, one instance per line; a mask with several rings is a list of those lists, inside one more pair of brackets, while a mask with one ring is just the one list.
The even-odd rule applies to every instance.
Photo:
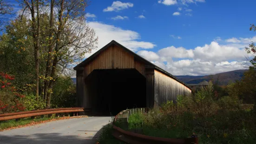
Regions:
[[116, 40], [173, 75], [244, 69], [256, 0], [91, 0], [98, 48]]

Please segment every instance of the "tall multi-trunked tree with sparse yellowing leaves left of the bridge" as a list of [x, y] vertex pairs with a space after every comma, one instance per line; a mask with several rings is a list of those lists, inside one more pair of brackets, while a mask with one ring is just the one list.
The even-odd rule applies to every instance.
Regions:
[[[85, 8], [88, 0], [23, 0], [24, 11], [32, 18], [36, 93], [39, 94], [39, 78], [43, 79], [43, 98], [50, 108], [54, 81], [73, 62], [80, 61], [86, 52], [96, 48], [98, 37], [85, 23]], [[45, 33], [42, 33], [42, 18], [48, 15]], [[44, 21], [45, 22], [45, 21]], [[45, 35], [45, 36], [42, 36]], [[44, 50], [42, 50], [44, 49]], [[40, 52], [45, 52], [41, 53]], [[39, 58], [46, 62], [39, 70]], [[39, 76], [40, 72], [44, 72]]]

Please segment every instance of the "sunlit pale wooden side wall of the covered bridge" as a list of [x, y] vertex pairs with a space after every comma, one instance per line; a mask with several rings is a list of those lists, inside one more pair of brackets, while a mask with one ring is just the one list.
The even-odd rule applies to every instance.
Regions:
[[175, 101], [177, 95], [191, 93], [191, 90], [187, 86], [157, 70], [155, 70], [154, 84], [155, 106], [159, 106], [167, 100]]

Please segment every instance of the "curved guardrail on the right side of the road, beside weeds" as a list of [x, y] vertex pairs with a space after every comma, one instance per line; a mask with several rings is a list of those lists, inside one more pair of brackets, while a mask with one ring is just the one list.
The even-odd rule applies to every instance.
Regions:
[[135, 112], [145, 112], [144, 108], [136, 108], [130, 110], [124, 110], [118, 113], [113, 121], [112, 135], [126, 144], [199, 144], [198, 137], [192, 136], [191, 138], [163, 138], [163, 137], [151, 137], [131, 131], [125, 131], [115, 126], [116, 121], [127, 123], [128, 118]]

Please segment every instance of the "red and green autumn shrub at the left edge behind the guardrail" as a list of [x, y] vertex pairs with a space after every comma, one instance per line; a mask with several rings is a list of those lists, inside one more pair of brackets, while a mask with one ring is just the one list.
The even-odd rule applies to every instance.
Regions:
[[13, 85], [14, 76], [0, 72], [0, 113], [24, 111], [25, 107], [20, 103], [24, 95], [18, 92]]

